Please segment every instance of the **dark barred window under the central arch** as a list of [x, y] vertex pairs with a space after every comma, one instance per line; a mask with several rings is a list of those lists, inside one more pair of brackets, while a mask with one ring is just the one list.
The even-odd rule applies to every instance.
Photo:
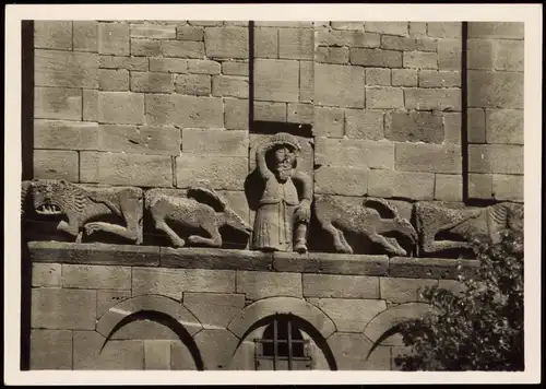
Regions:
[[297, 321], [290, 316], [278, 315], [256, 339], [257, 370], [307, 370], [312, 368], [309, 341], [305, 340]]

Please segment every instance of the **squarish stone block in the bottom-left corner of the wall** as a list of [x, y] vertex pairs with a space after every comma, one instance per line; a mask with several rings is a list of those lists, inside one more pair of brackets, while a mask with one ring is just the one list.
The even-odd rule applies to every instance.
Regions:
[[31, 369], [72, 369], [72, 331], [31, 331]]

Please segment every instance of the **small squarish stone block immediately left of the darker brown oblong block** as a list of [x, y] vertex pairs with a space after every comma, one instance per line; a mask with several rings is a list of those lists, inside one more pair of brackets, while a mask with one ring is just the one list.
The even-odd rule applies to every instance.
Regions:
[[345, 134], [353, 139], [383, 139], [383, 111], [346, 109]]

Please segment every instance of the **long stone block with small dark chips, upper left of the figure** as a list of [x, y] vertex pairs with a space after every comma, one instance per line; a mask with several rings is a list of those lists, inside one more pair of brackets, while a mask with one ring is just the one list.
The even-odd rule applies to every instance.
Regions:
[[149, 126], [107, 126], [98, 129], [98, 150], [129, 154], [180, 154], [180, 131]]

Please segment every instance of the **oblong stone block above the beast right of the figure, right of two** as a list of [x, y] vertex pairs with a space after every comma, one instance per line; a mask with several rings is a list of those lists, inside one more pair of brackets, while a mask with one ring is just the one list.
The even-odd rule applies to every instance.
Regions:
[[368, 194], [413, 200], [431, 200], [435, 190], [432, 173], [370, 170]]

